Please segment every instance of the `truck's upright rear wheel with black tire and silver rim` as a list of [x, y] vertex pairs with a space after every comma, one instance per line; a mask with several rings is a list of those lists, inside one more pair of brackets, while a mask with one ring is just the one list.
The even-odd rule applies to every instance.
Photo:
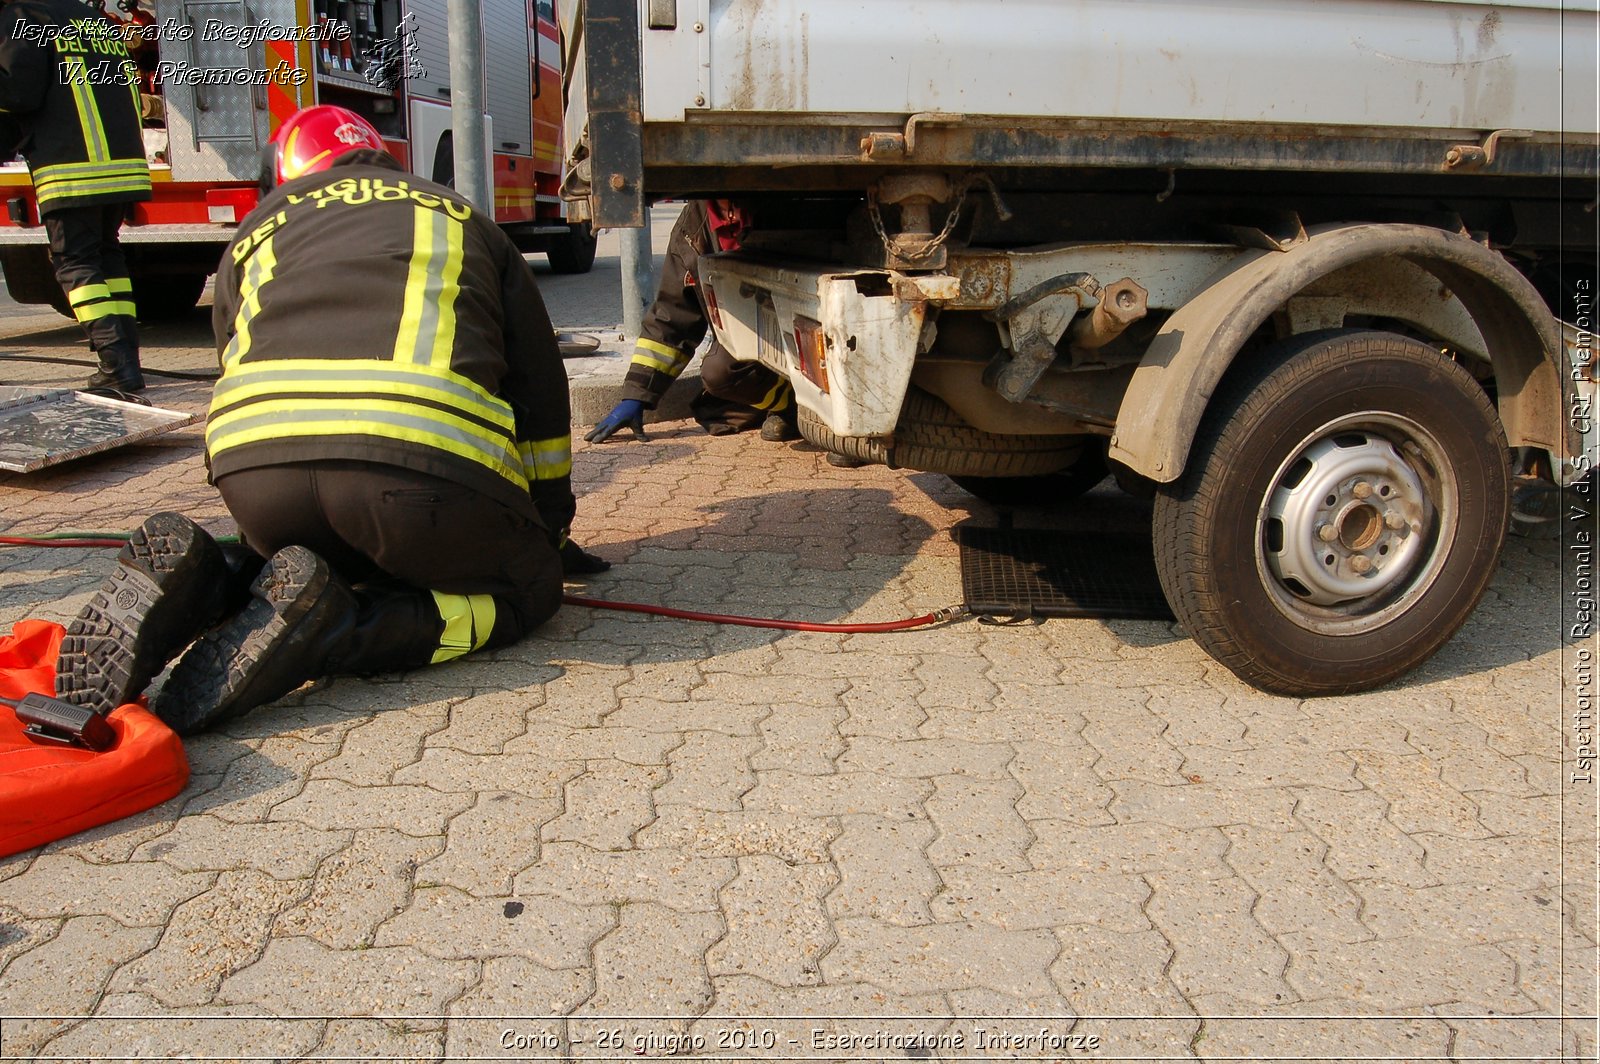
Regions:
[[1262, 352], [1155, 499], [1173, 613], [1246, 683], [1341, 694], [1427, 661], [1494, 574], [1506, 434], [1454, 362], [1390, 333]]

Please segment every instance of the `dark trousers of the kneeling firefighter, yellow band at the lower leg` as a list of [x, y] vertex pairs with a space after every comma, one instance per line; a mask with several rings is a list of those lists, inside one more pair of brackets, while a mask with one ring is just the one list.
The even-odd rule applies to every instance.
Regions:
[[530, 499], [510, 507], [398, 466], [317, 461], [216, 480], [243, 541], [322, 555], [355, 586], [328, 674], [373, 674], [514, 643], [562, 605], [562, 560]]

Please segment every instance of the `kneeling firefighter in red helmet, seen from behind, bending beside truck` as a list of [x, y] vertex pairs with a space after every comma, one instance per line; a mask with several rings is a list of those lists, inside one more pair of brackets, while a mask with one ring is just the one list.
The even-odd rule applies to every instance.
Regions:
[[512, 643], [563, 571], [608, 568], [566, 539], [566, 373], [510, 240], [342, 107], [298, 112], [266, 155], [216, 275], [206, 462], [267, 560], [157, 514], [58, 662], [61, 698], [107, 710], [198, 635], [154, 702], [181, 734]]

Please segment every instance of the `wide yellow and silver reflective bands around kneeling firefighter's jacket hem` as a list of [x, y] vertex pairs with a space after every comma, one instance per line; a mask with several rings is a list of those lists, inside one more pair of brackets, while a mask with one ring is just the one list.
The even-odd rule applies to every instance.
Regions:
[[510, 405], [448, 366], [283, 358], [224, 370], [206, 422], [213, 456], [246, 443], [315, 435], [418, 443], [528, 486]]

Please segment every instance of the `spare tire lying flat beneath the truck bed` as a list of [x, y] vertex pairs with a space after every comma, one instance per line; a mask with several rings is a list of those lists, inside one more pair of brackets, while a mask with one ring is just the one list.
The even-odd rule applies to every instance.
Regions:
[[1038, 477], [1078, 458], [1080, 435], [998, 435], [966, 424], [950, 406], [917, 387], [906, 389], [894, 438], [838, 435], [800, 408], [800, 435], [826, 451], [861, 462], [918, 469], [949, 477]]

